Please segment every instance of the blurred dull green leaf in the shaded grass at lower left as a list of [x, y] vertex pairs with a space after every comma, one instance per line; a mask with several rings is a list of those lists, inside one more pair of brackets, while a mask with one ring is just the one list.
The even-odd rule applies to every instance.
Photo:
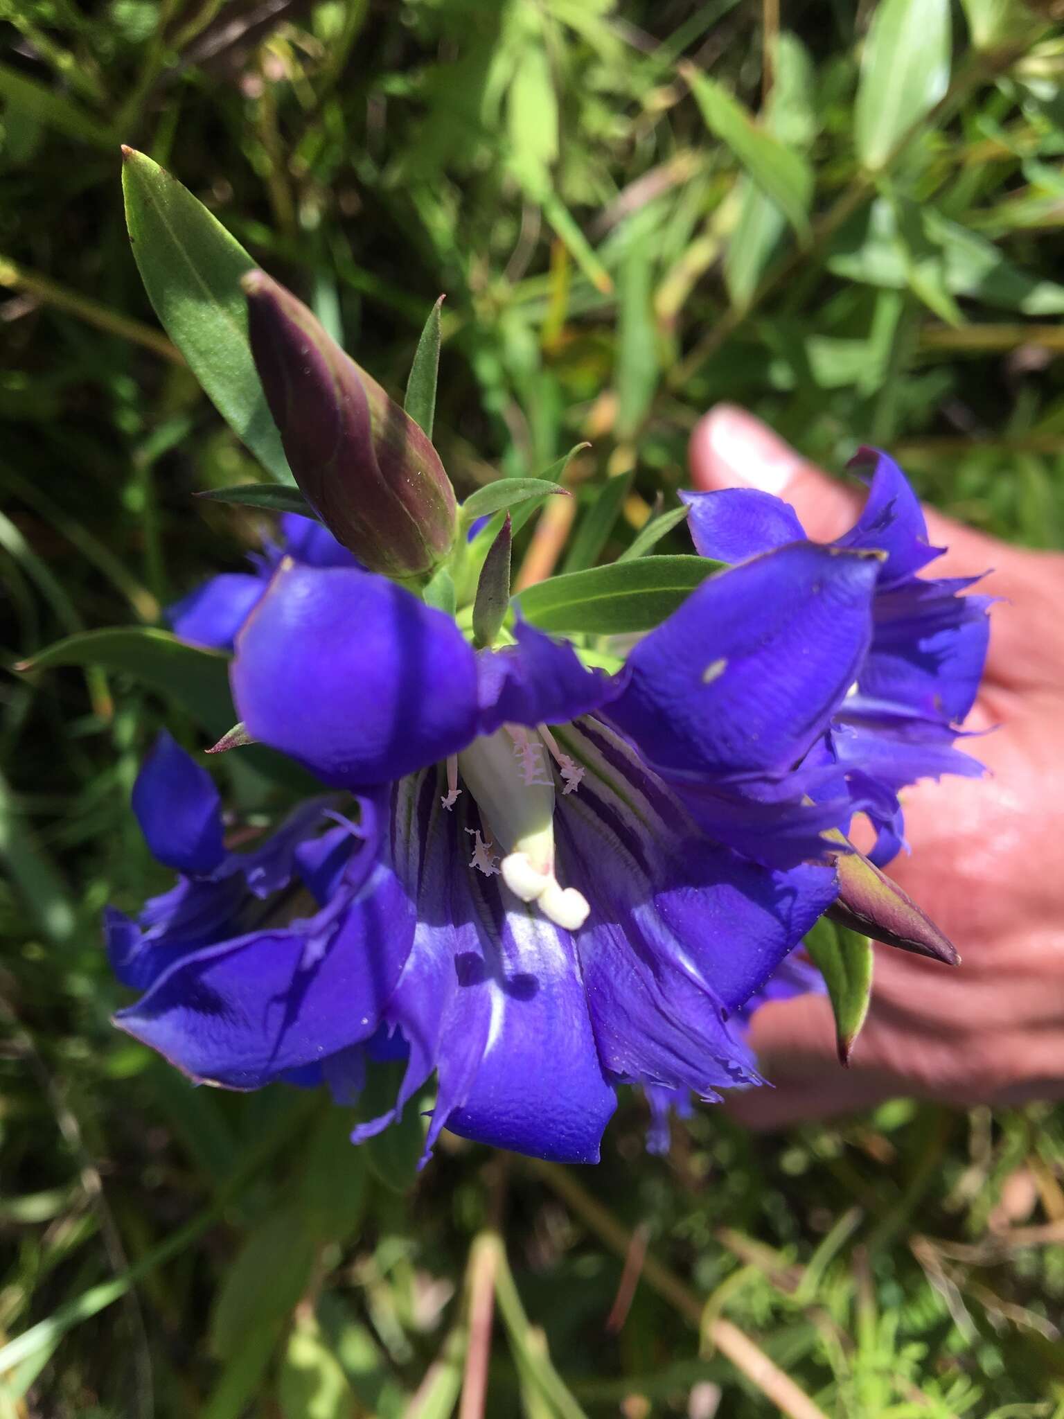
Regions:
[[299, 1206], [260, 1219], [223, 1273], [210, 1323], [214, 1354], [235, 1355], [244, 1335], [291, 1314], [311, 1280], [315, 1256]]

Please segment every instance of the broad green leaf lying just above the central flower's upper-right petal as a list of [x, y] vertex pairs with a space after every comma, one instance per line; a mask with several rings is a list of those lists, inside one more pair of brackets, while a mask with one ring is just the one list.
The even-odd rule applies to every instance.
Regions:
[[515, 602], [541, 630], [596, 636], [651, 630], [721, 569], [705, 556], [645, 556], [552, 576]]

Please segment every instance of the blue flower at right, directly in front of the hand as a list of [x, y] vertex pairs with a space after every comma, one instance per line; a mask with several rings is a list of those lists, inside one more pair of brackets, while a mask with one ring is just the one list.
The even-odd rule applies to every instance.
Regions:
[[[931, 546], [919, 501], [885, 453], [863, 448], [851, 467], [871, 468], [868, 501], [850, 532], [831, 545], [875, 548], [874, 634], [867, 658], [817, 751], [806, 759], [844, 771], [854, 809], [877, 830], [872, 861], [904, 846], [898, 792], [942, 773], [977, 776], [983, 766], [953, 746], [979, 688], [992, 597], [965, 596], [977, 576], [925, 579], [918, 573], [942, 548]], [[794, 509], [752, 488], [681, 494], [702, 556], [726, 562], [804, 538]], [[837, 789], [837, 780], [836, 780]], [[810, 788], [820, 796], [816, 786]]]

